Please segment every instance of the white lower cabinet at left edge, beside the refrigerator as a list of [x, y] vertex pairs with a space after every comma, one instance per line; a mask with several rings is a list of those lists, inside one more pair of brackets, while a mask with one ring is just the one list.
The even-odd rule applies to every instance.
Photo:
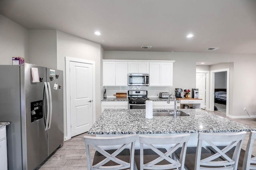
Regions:
[[0, 128], [0, 170], [7, 170], [6, 126]]

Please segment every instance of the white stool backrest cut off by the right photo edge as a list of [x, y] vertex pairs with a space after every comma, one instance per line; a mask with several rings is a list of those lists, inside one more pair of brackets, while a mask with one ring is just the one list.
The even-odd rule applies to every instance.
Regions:
[[246, 146], [245, 154], [244, 154], [244, 162], [243, 162], [243, 170], [256, 169], [256, 157], [252, 158], [252, 150], [253, 144], [256, 139], [256, 131], [251, 131], [249, 135], [249, 140]]

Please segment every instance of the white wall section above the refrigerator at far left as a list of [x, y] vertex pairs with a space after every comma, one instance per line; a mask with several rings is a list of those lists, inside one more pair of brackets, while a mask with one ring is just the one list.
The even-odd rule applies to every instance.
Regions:
[[28, 30], [0, 14], [0, 64], [12, 64], [12, 57], [28, 59]]

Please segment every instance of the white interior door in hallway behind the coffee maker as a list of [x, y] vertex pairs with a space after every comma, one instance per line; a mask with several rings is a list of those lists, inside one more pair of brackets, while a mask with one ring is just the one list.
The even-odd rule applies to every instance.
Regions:
[[196, 73], [196, 88], [199, 90], [199, 98], [202, 99], [201, 109], [205, 109], [205, 96], [206, 96], [206, 73]]

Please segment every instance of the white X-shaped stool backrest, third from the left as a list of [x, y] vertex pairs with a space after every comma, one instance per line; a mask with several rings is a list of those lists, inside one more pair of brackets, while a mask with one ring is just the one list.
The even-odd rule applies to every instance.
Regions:
[[[238, 158], [242, 147], [242, 142], [246, 132], [238, 133], [199, 133], [198, 134], [198, 145], [196, 149], [196, 162], [195, 170], [203, 169], [202, 166], [208, 166], [206, 169], [214, 168], [214, 170], [226, 169], [236, 170], [238, 166]], [[206, 141], [216, 153], [204, 159], [201, 158], [202, 141]], [[218, 143], [218, 144], [216, 144]], [[221, 144], [220, 144], [221, 143]], [[216, 145], [225, 145], [224, 149], [220, 150]], [[235, 147], [232, 158], [226, 155], [230, 149]], [[214, 161], [216, 158], [222, 158], [223, 161]], [[222, 168], [220, 168], [222, 166]], [[205, 168], [204, 168], [205, 169]]]

